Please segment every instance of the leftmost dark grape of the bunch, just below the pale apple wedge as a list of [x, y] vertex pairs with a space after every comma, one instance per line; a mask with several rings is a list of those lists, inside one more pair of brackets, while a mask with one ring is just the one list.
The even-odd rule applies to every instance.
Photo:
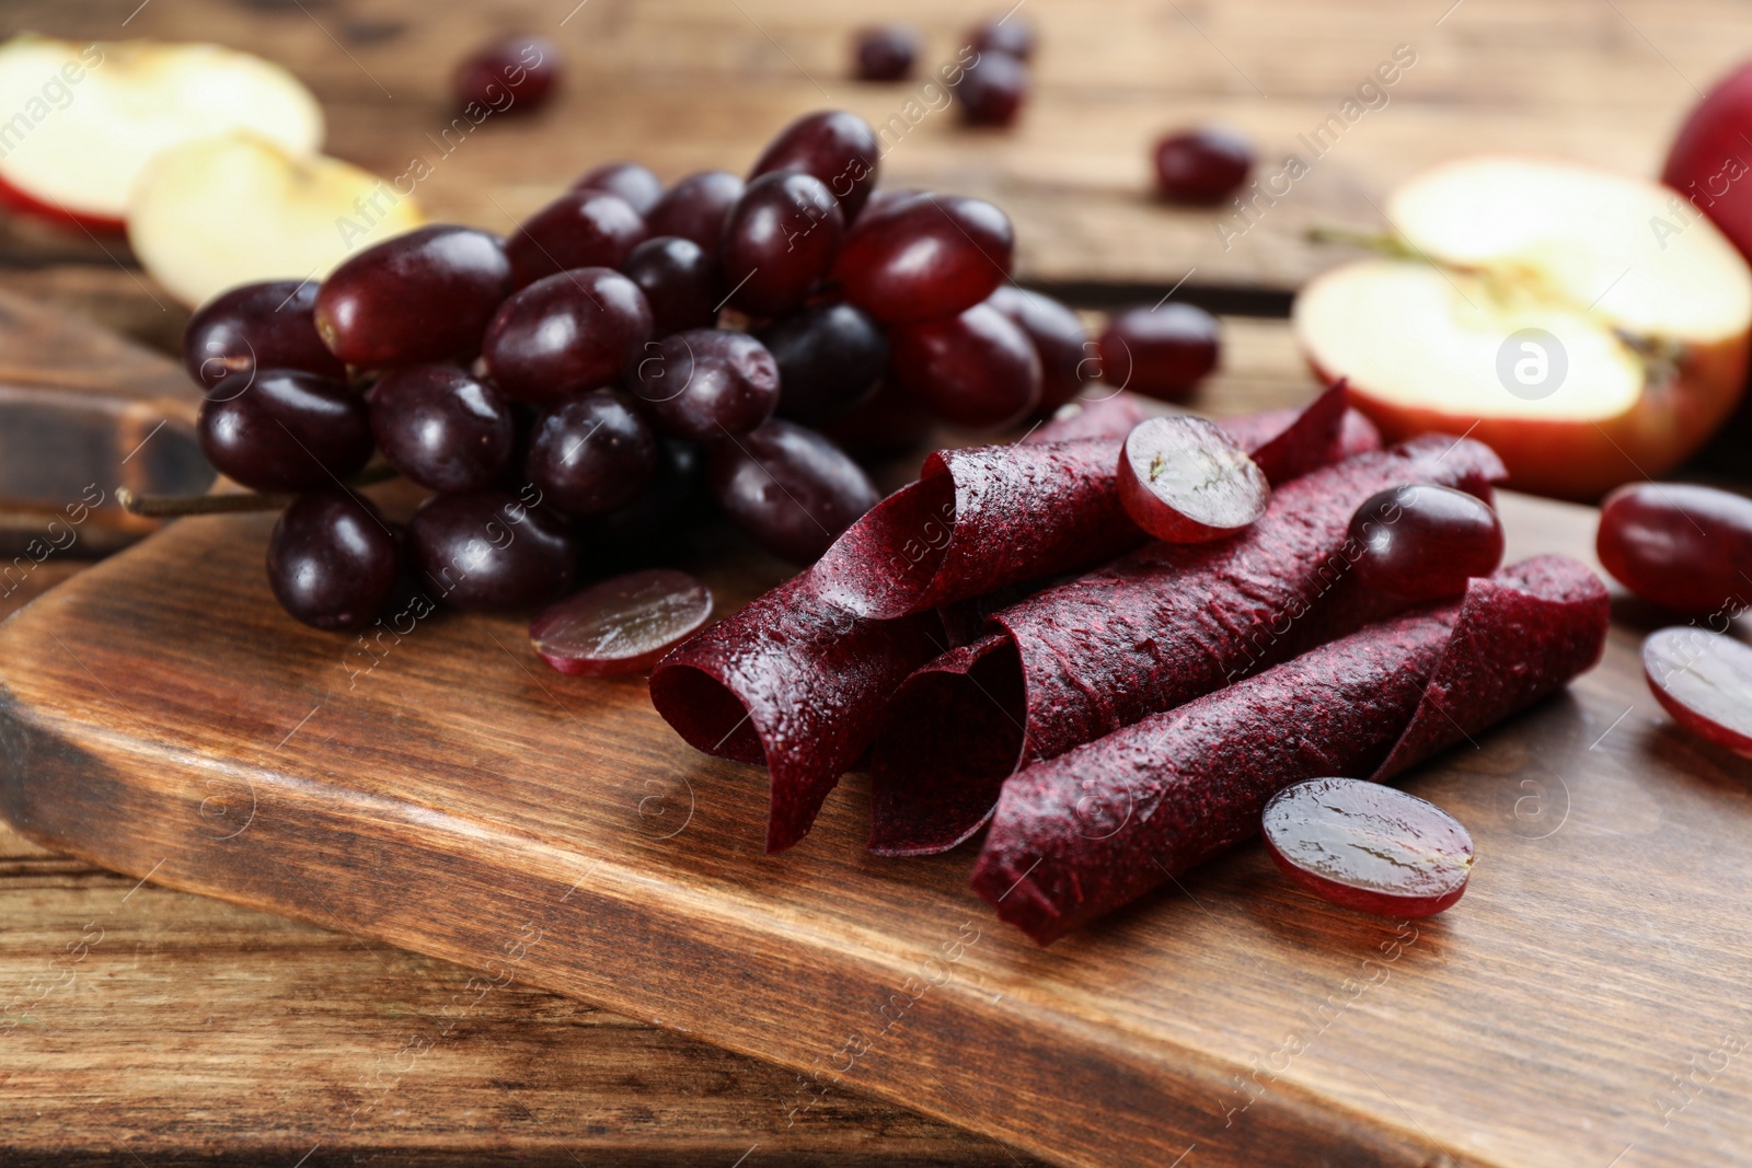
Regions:
[[240, 284], [201, 305], [182, 331], [182, 364], [198, 385], [228, 373], [301, 369], [345, 378], [347, 366], [317, 333], [310, 280]]

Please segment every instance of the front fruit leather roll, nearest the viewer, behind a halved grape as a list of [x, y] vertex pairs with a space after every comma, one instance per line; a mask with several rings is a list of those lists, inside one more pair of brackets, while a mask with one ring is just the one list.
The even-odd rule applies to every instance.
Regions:
[[1605, 650], [1600, 580], [1559, 555], [1368, 625], [1014, 774], [974, 891], [1039, 944], [1260, 830], [1302, 779], [1388, 779], [1524, 709]]

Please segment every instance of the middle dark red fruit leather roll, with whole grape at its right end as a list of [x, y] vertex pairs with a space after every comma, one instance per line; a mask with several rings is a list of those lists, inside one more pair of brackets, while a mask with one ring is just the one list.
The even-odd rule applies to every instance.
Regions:
[[871, 849], [946, 851], [985, 825], [1004, 779], [1395, 606], [1349, 574], [1351, 515], [1403, 483], [1489, 499], [1503, 466], [1438, 434], [1303, 475], [1247, 531], [1151, 543], [992, 616], [894, 695], [871, 758]]

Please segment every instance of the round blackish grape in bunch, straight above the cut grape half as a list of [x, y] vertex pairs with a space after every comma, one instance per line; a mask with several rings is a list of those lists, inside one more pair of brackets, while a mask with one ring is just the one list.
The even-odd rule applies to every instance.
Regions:
[[657, 440], [632, 403], [599, 389], [555, 403], [536, 419], [524, 469], [545, 503], [569, 515], [625, 506], [657, 466]]

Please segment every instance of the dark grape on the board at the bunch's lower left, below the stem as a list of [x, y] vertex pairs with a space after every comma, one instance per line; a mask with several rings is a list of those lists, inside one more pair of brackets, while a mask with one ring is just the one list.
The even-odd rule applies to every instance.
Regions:
[[268, 587], [307, 625], [363, 629], [396, 590], [396, 538], [370, 499], [340, 487], [301, 494], [268, 538]]

